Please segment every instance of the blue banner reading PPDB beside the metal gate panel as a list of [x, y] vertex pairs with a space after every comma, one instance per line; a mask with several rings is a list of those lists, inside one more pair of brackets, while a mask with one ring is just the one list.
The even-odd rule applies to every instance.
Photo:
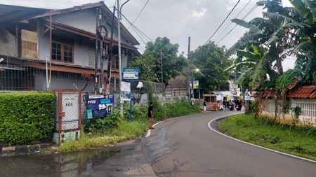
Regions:
[[86, 99], [86, 116], [88, 119], [103, 118], [112, 113], [114, 94], [89, 95]]

